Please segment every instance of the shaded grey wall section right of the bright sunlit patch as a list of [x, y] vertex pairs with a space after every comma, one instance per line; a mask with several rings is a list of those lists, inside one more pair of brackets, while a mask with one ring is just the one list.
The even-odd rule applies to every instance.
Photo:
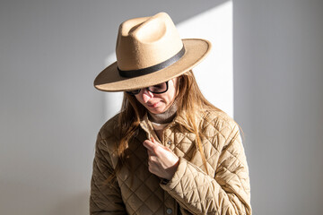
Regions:
[[235, 119], [254, 214], [322, 214], [323, 2], [233, 1]]

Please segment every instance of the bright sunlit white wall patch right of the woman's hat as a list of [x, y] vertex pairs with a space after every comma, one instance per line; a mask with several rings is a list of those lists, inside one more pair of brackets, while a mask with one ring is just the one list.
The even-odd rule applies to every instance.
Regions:
[[182, 38], [211, 41], [210, 55], [193, 72], [205, 98], [233, 116], [231, 1], [180, 22], [177, 27]]

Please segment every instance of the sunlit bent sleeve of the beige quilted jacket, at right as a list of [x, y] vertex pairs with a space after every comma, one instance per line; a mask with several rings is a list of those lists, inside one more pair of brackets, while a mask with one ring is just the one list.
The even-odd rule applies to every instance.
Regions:
[[162, 188], [193, 214], [251, 214], [249, 170], [237, 125], [223, 144], [214, 176], [186, 159]]

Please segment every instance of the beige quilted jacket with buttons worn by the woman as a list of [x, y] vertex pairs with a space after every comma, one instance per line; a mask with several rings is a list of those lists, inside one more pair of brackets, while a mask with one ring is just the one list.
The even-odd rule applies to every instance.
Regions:
[[[201, 114], [202, 115], [202, 114]], [[161, 143], [179, 156], [179, 168], [172, 179], [162, 183], [148, 171], [143, 146], [153, 135], [153, 126], [144, 116], [133, 142], [128, 145], [127, 163], [112, 185], [105, 183], [117, 165], [115, 149], [118, 116], [100, 129], [93, 161], [91, 214], [251, 214], [249, 170], [240, 140], [239, 127], [219, 111], [205, 111], [200, 118], [208, 175], [196, 150], [196, 136], [179, 125], [177, 116], [166, 127]], [[135, 173], [132, 176], [132, 172]]]

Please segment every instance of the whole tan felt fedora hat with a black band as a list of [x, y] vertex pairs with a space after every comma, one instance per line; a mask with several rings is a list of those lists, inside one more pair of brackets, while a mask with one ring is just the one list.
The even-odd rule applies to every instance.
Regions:
[[103, 91], [126, 91], [166, 82], [187, 73], [211, 49], [206, 39], [180, 39], [167, 13], [121, 23], [116, 47], [117, 62], [94, 80]]

